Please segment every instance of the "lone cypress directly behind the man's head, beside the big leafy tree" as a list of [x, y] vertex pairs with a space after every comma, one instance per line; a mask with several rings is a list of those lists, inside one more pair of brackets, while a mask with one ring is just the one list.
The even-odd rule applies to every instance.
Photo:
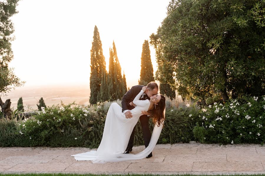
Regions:
[[150, 49], [148, 40], [143, 43], [143, 50], [141, 56], [141, 73], [140, 73], [140, 85], [147, 85], [149, 82], [155, 81], [154, 70], [151, 62]]

